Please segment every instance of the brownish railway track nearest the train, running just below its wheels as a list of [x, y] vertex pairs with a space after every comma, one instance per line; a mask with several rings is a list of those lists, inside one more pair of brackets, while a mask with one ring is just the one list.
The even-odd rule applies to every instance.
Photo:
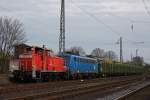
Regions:
[[[137, 77], [137, 76], [132, 76]], [[111, 82], [116, 80], [123, 80], [128, 78], [127, 76], [122, 77], [108, 77], [108, 78], [98, 78], [98, 79], [91, 79], [91, 80], [84, 80], [83, 82], [77, 80], [71, 81], [56, 81], [56, 82], [47, 82], [47, 83], [29, 83], [29, 84], [19, 84], [19, 83], [12, 83], [12, 84], [3, 84], [0, 85], [0, 94], [9, 93], [9, 92], [21, 92], [21, 91], [29, 91], [33, 89], [43, 89], [43, 88], [57, 88], [57, 87], [64, 87], [69, 85], [78, 85], [78, 84], [86, 84], [86, 83], [94, 83], [94, 82]]]

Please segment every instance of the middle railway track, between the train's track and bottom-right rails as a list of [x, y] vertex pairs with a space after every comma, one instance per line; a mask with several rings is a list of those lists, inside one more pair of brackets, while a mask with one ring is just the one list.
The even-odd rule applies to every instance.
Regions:
[[117, 81], [112, 81], [109, 83], [100, 84], [99, 82], [91, 82], [88, 84], [78, 84], [78, 85], [71, 85], [71, 86], [63, 86], [63, 87], [57, 87], [57, 88], [48, 88], [43, 91], [38, 91], [35, 93], [25, 94], [24, 96], [15, 96], [15, 97], [9, 97], [7, 100], [30, 100], [30, 99], [49, 99], [49, 100], [55, 100], [55, 99], [64, 99], [64, 98], [70, 98], [77, 95], [90, 93], [94, 91], [100, 91], [100, 90], [106, 90], [111, 89], [114, 87], [127, 85], [133, 82], [141, 81], [141, 77], [132, 77], [132, 78], [124, 78]]

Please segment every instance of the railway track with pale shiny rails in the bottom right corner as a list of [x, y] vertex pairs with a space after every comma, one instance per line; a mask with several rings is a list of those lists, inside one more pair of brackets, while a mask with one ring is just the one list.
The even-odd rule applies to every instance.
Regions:
[[[145, 77], [141, 82], [135, 82], [127, 86], [121, 86], [111, 91], [106, 92], [103, 95], [97, 96], [95, 100], [128, 100], [129, 97], [132, 97], [134, 94], [140, 92], [141, 90], [150, 86], [149, 77]], [[132, 98], [135, 100], [138, 98]], [[143, 99], [138, 99], [143, 100]], [[149, 100], [149, 99], [146, 99]]]

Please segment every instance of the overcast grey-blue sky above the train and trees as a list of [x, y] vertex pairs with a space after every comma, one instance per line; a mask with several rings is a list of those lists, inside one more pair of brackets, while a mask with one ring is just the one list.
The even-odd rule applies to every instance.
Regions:
[[[58, 51], [60, 1], [0, 0], [0, 16], [18, 18], [28, 43]], [[99, 47], [119, 55], [115, 42], [122, 36], [125, 60], [139, 49], [150, 63], [150, 0], [145, 4], [148, 11], [143, 0], [66, 0], [66, 48], [81, 46], [90, 53]]]

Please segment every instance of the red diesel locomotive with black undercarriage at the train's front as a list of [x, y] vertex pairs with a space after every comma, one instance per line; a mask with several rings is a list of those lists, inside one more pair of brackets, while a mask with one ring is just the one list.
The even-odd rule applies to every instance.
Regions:
[[51, 56], [46, 48], [30, 48], [26, 53], [20, 54], [17, 61], [18, 69], [13, 70], [11, 75], [15, 80], [49, 81], [64, 78], [67, 70], [63, 58]]

